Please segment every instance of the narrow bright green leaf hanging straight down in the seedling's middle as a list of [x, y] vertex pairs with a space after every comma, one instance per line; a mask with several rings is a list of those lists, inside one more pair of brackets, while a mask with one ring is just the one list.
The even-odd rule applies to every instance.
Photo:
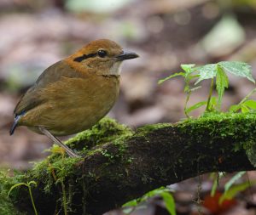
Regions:
[[224, 72], [224, 70], [219, 65], [217, 65], [216, 89], [218, 92], [218, 108], [219, 109], [222, 103], [224, 90], [225, 88], [228, 88], [228, 87], [229, 87], [229, 78]]

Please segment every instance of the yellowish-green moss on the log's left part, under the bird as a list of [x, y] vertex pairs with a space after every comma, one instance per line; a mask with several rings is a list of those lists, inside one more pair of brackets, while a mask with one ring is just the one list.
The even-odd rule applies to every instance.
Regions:
[[[86, 130], [82, 133], [77, 134], [72, 139], [67, 140], [67, 144], [78, 150], [79, 154], [84, 154], [84, 156], [92, 156], [94, 153], [102, 153], [108, 159], [106, 165], [113, 163], [114, 161], [122, 161], [128, 163], [131, 159], [125, 157], [126, 146], [123, 141], [131, 137], [133, 132], [131, 128], [120, 125], [112, 119], [104, 118], [102, 121], [97, 123], [94, 127]], [[97, 148], [100, 144], [113, 144], [113, 150], [103, 150], [102, 148]], [[93, 148], [94, 147], [94, 148]], [[78, 163], [84, 161], [84, 158], [70, 158], [64, 156], [63, 151], [60, 150], [58, 146], [53, 146], [51, 150], [52, 154], [47, 157], [44, 161], [34, 163], [31, 170], [28, 170], [26, 174], [17, 173], [15, 177], [9, 177], [6, 179], [8, 185], [3, 185], [3, 177], [0, 176], [0, 197], [4, 194], [7, 196], [9, 188], [20, 182], [27, 182], [34, 180], [39, 184], [38, 189], [40, 192], [44, 192], [45, 195], [55, 196], [56, 201], [62, 202], [63, 194], [55, 193], [56, 187], [64, 188], [66, 190], [66, 197], [68, 202], [72, 202], [73, 195], [81, 190], [73, 190], [73, 187], [78, 189], [76, 183], [83, 184], [83, 173], [81, 169], [78, 168]], [[126, 161], [127, 160], [127, 161]], [[79, 172], [79, 173], [78, 173]], [[103, 170], [102, 173], [104, 174]], [[80, 175], [81, 178], [76, 178], [73, 180], [73, 175]], [[94, 178], [99, 177], [99, 173], [92, 173], [90, 176]], [[90, 177], [86, 176], [86, 177]], [[72, 190], [72, 191], [70, 191]], [[21, 194], [21, 193], [22, 194]], [[86, 190], [84, 191], [86, 192]], [[13, 210], [13, 202], [20, 198], [20, 195], [24, 195], [24, 188], [17, 187], [11, 195], [11, 199], [2, 198], [0, 200], [0, 214], [19, 214], [15, 213]], [[29, 199], [28, 199], [29, 201]], [[67, 202], [67, 203], [68, 203]], [[61, 205], [59, 203], [59, 205]], [[14, 213], [7, 212], [3, 210], [14, 211]]]

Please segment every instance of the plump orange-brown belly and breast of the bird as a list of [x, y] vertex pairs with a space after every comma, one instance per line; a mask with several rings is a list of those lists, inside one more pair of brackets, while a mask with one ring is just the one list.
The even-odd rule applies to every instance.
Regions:
[[37, 127], [43, 126], [56, 136], [79, 133], [107, 115], [118, 94], [119, 82], [113, 80], [92, 85], [83, 79], [61, 82], [42, 93], [45, 102], [28, 111], [22, 124], [38, 133]]

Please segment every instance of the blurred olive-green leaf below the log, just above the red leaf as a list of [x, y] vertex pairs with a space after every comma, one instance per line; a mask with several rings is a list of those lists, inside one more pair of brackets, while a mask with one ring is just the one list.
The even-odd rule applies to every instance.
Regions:
[[256, 181], [247, 181], [245, 183], [233, 186], [232, 188], [230, 188], [230, 190], [228, 190], [223, 195], [221, 195], [221, 197], [218, 200], [218, 204], [221, 205], [224, 200], [233, 199], [239, 192], [241, 192], [243, 190], [247, 190], [247, 188], [250, 187], [253, 184], [256, 184]]

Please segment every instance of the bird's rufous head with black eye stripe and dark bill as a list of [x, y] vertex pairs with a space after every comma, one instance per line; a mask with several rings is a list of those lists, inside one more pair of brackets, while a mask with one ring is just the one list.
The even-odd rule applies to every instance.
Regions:
[[116, 42], [108, 39], [88, 43], [78, 52], [67, 58], [73, 67], [93, 71], [98, 75], [119, 75], [121, 63], [125, 59], [135, 59], [138, 55], [125, 52]]

